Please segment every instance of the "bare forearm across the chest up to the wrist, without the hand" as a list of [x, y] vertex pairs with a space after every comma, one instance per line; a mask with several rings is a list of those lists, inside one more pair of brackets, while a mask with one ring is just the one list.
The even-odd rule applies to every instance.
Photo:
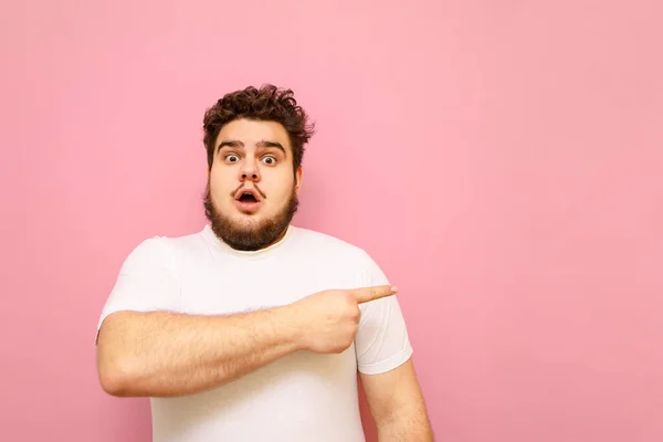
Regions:
[[172, 397], [228, 382], [296, 351], [285, 307], [232, 316], [117, 312], [97, 345], [102, 388], [118, 397]]

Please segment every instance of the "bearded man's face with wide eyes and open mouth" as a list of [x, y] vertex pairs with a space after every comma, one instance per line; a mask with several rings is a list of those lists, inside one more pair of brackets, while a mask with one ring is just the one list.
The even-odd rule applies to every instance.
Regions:
[[206, 209], [212, 230], [238, 250], [274, 243], [297, 210], [301, 182], [302, 169], [295, 176], [290, 138], [281, 124], [228, 123], [217, 137], [208, 179]]

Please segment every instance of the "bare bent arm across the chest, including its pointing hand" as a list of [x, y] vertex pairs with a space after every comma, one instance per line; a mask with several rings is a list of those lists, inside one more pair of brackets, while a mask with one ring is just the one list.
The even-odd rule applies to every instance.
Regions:
[[340, 352], [357, 333], [359, 304], [389, 286], [325, 291], [293, 304], [231, 316], [116, 312], [99, 329], [97, 370], [118, 397], [175, 397], [229, 382], [297, 350]]

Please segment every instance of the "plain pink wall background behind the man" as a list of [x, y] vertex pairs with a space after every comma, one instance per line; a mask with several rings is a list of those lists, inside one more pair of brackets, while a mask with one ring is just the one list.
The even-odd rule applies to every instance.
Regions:
[[401, 288], [438, 440], [663, 440], [661, 2], [6, 3], [0, 440], [150, 439], [97, 317], [202, 225], [204, 108], [264, 82], [318, 122], [296, 223]]

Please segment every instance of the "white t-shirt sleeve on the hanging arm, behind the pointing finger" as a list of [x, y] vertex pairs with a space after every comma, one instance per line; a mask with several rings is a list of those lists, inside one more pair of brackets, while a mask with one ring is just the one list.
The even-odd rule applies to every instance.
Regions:
[[[360, 286], [389, 285], [378, 264], [366, 254]], [[357, 368], [365, 375], [378, 375], [404, 364], [412, 346], [397, 295], [361, 304], [355, 336]]]

